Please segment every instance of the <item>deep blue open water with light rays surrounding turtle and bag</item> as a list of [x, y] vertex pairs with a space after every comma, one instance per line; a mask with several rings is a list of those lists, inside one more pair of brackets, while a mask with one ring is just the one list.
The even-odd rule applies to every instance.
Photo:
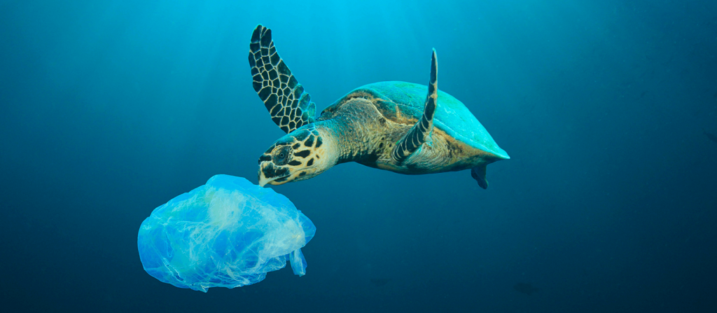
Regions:
[[[511, 160], [273, 186], [307, 274], [208, 293], [146, 274], [138, 228], [284, 133], [257, 24], [318, 110], [438, 86]], [[3, 312], [716, 312], [717, 1], [0, 1]], [[537, 291], [535, 291], [537, 289]], [[535, 292], [533, 292], [535, 291]]]

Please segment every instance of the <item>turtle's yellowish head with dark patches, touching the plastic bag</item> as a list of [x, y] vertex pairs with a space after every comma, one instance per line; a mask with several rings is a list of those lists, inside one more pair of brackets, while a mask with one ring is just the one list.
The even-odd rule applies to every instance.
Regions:
[[315, 127], [302, 127], [279, 138], [259, 157], [259, 186], [305, 180], [331, 168], [337, 158], [326, 139]]

